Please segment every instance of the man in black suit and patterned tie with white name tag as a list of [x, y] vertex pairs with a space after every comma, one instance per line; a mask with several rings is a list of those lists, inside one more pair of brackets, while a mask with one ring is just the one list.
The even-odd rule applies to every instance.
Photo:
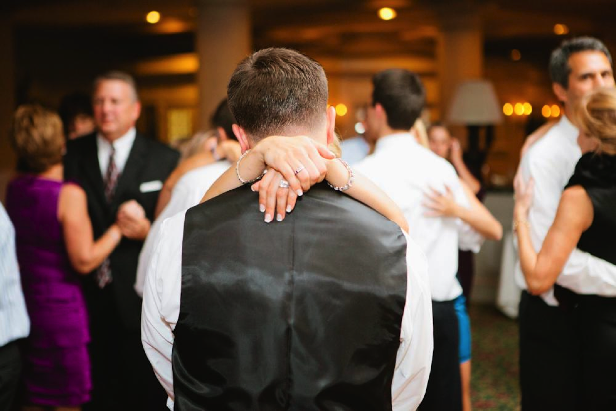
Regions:
[[68, 142], [65, 179], [86, 191], [94, 235], [118, 221], [124, 238], [84, 279], [93, 385], [86, 409], [162, 409], [164, 393], [140, 343], [141, 299], [132, 285], [158, 193], [179, 153], [136, 132], [141, 105], [128, 74], [97, 78], [93, 107], [97, 132]]

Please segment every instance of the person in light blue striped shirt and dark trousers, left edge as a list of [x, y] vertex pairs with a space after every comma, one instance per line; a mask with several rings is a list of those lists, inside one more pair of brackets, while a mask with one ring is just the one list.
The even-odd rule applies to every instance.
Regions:
[[10, 410], [22, 359], [18, 340], [28, 337], [30, 320], [23, 299], [15, 253], [15, 228], [0, 203], [0, 410]]

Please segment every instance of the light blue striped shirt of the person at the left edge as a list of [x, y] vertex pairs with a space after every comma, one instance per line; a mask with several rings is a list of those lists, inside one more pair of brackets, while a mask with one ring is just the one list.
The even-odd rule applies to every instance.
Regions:
[[30, 319], [19, 278], [15, 228], [0, 203], [0, 347], [28, 333]]

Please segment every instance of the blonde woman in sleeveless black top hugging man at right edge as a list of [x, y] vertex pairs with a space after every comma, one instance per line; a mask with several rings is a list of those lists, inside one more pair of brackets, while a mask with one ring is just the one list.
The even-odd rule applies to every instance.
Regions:
[[[616, 265], [616, 89], [598, 89], [574, 114], [582, 157], [562, 193], [554, 223], [541, 250], [530, 239], [528, 210], [533, 183], [516, 182], [519, 255], [529, 292], [539, 295], [554, 285], [562, 309], [572, 313], [579, 355], [580, 401], [584, 409], [616, 409], [616, 278], [586, 276], [567, 287], [558, 282], [577, 247]], [[610, 281], [611, 280], [611, 281]]]

